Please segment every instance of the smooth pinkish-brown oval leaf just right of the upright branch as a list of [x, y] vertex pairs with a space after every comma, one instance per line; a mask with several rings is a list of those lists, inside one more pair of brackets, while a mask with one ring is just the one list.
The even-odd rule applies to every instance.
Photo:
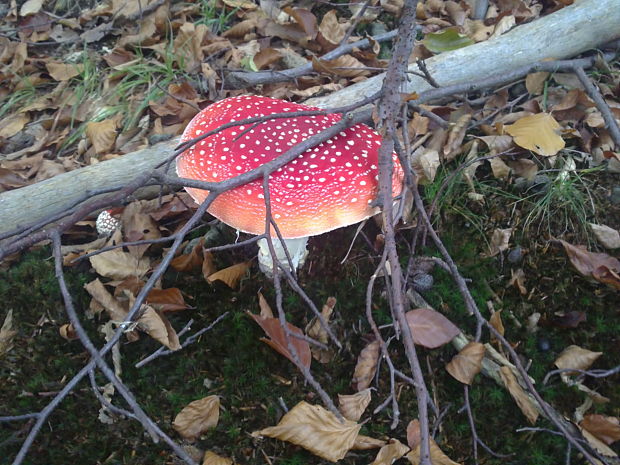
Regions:
[[461, 330], [441, 313], [430, 308], [417, 308], [405, 313], [413, 342], [436, 349], [454, 339]]

